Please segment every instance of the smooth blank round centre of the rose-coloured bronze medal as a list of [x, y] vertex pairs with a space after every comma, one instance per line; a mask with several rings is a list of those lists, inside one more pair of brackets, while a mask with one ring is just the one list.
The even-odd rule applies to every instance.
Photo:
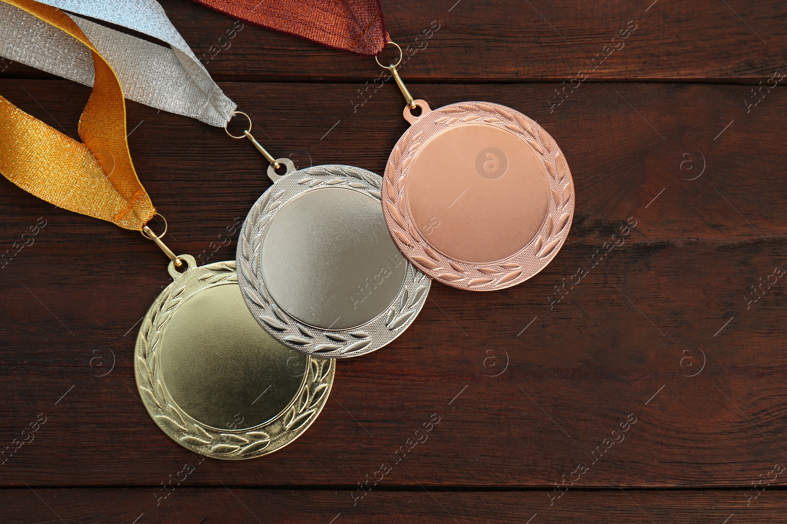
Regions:
[[408, 210], [443, 255], [485, 264], [530, 244], [549, 208], [549, 174], [515, 134], [454, 126], [421, 146], [407, 178]]

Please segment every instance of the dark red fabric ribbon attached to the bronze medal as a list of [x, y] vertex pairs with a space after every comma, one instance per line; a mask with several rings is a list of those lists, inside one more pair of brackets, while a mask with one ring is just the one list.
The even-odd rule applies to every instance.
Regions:
[[249, 24], [374, 56], [389, 41], [379, 0], [194, 0]]

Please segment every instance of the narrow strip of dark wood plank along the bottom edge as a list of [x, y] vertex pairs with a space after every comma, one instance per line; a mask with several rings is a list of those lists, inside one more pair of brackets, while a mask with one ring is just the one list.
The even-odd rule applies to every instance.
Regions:
[[[194, 471], [194, 476], [199, 475]], [[412, 472], [405, 473], [408, 475]], [[190, 482], [190, 478], [186, 482]], [[749, 495], [727, 490], [576, 490], [549, 505], [549, 492], [445, 492], [372, 490], [353, 506], [347, 490], [195, 489], [179, 486], [165, 499], [155, 488], [3, 489], [3, 522], [508, 522], [549, 524], [608, 522], [652, 524], [759, 524], [781, 522], [787, 495], [766, 489], [747, 506]], [[162, 497], [158, 495], [158, 497]], [[157, 505], [157, 502], [160, 504]], [[60, 520], [62, 519], [62, 521]], [[138, 520], [135, 520], [138, 519]], [[530, 520], [528, 520], [530, 519]]]

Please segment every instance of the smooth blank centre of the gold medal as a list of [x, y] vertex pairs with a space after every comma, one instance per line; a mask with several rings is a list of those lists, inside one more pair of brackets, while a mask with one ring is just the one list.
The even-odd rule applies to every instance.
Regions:
[[260, 329], [238, 284], [205, 288], [168, 321], [161, 381], [188, 416], [218, 430], [258, 426], [296, 396], [308, 359]]

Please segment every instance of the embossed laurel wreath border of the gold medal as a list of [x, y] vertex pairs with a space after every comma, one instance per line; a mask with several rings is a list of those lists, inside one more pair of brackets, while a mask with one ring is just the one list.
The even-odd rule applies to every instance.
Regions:
[[[194, 280], [205, 286], [184, 296]], [[235, 261], [189, 269], [153, 302], [142, 320], [135, 349], [137, 389], [150, 417], [172, 440], [195, 453], [224, 460], [251, 459], [272, 453], [293, 442], [316, 420], [334, 379], [334, 361], [309, 357], [304, 383], [286, 410], [267, 423], [242, 431], [216, 431], [195, 422], [179, 408], [161, 382], [158, 348], [172, 315], [190, 296], [214, 285], [237, 282]]]

